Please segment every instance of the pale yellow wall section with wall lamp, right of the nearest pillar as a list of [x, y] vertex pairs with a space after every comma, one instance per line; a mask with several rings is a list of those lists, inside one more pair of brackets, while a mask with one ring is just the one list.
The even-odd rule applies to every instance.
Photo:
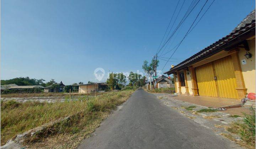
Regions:
[[[255, 39], [247, 40], [247, 43], [249, 44], [249, 52], [252, 54], [252, 57], [246, 59], [244, 56], [246, 54], [246, 50], [240, 48], [239, 60], [247, 93], [255, 93]], [[242, 65], [242, 60], [244, 59], [246, 60], [246, 64]]]

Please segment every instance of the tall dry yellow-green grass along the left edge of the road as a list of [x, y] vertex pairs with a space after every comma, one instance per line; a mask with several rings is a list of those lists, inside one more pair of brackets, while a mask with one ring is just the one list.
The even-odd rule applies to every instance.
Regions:
[[[132, 93], [133, 90], [109, 92], [97, 96], [96, 99], [95, 96], [91, 96], [88, 101], [81, 99], [81, 101], [71, 101], [70, 103], [27, 102], [18, 105], [14, 101], [8, 101], [12, 103], [2, 103], [1, 107], [4, 108], [1, 108], [1, 145], [16, 134], [70, 115], [76, 116], [68, 123], [57, 126], [53, 134], [67, 133], [72, 135], [87, 132], [92, 123], [102, 121], [105, 115], [108, 115], [117, 105], [126, 101]], [[96, 125], [99, 124], [96, 123]], [[29, 142], [38, 141], [38, 139], [41, 138], [34, 138]]]

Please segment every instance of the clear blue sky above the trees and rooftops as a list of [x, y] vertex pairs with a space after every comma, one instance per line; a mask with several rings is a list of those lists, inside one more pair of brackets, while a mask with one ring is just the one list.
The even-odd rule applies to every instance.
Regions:
[[[98, 67], [106, 73], [143, 72], [143, 61], [156, 53], [177, 2], [1, 0], [1, 79], [28, 76], [71, 84], [97, 82]], [[204, 2], [198, 3], [166, 51], [183, 38]], [[174, 27], [190, 3], [185, 1]], [[254, 8], [254, 0], [215, 0], [172, 58], [184, 60], [229, 34]], [[168, 62], [163, 71], [179, 62]], [[159, 69], [164, 65], [160, 60]]]

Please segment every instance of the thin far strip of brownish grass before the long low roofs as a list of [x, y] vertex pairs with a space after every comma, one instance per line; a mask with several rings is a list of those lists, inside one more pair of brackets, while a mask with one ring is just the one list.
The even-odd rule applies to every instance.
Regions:
[[12, 97], [65, 97], [69, 96], [68, 94], [64, 93], [11, 93], [11, 94], [2, 94], [2, 98], [12, 98]]

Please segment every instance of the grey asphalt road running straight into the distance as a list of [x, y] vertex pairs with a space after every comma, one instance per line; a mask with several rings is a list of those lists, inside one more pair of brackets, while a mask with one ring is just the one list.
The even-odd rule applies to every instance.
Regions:
[[136, 90], [78, 148], [239, 148], [212, 130], [162, 104], [153, 94]]

